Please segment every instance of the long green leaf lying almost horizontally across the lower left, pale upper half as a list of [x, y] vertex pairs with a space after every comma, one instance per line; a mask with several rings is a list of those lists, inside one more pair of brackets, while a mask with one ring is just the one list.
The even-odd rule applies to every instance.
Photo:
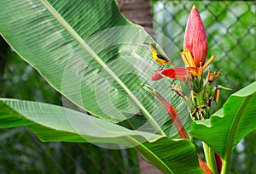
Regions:
[[[42, 141], [114, 143], [134, 147], [165, 173], [201, 173], [189, 140], [129, 130], [92, 115], [52, 104], [0, 98], [0, 127], [26, 126]], [[145, 142], [149, 139], [148, 142]], [[144, 142], [144, 143], [142, 143]]]

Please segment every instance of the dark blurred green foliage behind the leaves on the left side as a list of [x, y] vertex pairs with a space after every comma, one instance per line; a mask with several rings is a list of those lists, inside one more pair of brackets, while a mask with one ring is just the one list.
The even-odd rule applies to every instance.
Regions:
[[[0, 38], [0, 93], [61, 105], [61, 95]], [[138, 173], [134, 149], [90, 143], [42, 143], [26, 127], [0, 129], [0, 173]]]

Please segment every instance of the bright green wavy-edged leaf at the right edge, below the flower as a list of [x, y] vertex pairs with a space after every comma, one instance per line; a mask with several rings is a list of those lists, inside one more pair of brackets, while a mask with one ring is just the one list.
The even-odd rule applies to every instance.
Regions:
[[194, 121], [190, 135], [207, 143], [222, 158], [256, 128], [256, 82], [232, 94], [210, 120]]

